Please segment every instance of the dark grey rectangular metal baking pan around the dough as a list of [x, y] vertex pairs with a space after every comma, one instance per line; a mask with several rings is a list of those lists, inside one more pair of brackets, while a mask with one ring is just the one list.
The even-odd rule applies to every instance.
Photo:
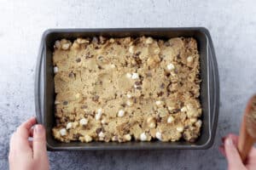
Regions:
[[[177, 142], [61, 143], [54, 139], [51, 128], [55, 125], [55, 86], [52, 53], [56, 40], [76, 37], [140, 37], [154, 38], [194, 37], [198, 43], [201, 64], [201, 136], [195, 143]], [[218, 65], [209, 31], [202, 27], [188, 28], [113, 28], [113, 29], [50, 29], [44, 31], [39, 53], [35, 81], [35, 108], [39, 123], [46, 127], [48, 150], [159, 150], [201, 149], [212, 146], [218, 124], [219, 83]]]

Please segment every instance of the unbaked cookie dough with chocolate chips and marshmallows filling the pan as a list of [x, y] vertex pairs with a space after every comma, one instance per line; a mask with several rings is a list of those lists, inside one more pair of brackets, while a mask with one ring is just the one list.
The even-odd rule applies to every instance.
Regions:
[[62, 142], [195, 142], [200, 64], [191, 37], [55, 42], [55, 120]]

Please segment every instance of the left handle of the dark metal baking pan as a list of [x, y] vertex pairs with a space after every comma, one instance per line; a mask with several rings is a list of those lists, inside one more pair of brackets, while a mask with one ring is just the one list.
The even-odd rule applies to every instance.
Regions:
[[41, 76], [42, 76], [42, 65], [43, 65], [43, 59], [44, 59], [44, 42], [41, 41], [39, 51], [38, 51], [38, 63], [36, 66], [36, 76], [35, 76], [35, 110], [36, 110], [36, 117], [38, 123], [43, 123], [42, 119], [42, 108], [41, 108]]

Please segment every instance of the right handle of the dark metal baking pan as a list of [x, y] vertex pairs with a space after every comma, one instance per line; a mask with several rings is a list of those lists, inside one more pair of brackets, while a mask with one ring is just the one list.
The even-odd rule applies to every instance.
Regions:
[[209, 40], [209, 48], [208, 48], [208, 53], [211, 55], [210, 57], [210, 62], [212, 65], [212, 78], [213, 78], [213, 94], [211, 94], [212, 97], [212, 125], [211, 125], [211, 133], [212, 133], [212, 139], [215, 137], [215, 133], [217, 130], [217, 125], [218, 125], [218, 108], [219, 108], [219, 82], [218, 82], [218, 63], [216, 59], [216, 55], [214, 53], [214, 47], [212, 43], [211, 37], [208, 39]]

